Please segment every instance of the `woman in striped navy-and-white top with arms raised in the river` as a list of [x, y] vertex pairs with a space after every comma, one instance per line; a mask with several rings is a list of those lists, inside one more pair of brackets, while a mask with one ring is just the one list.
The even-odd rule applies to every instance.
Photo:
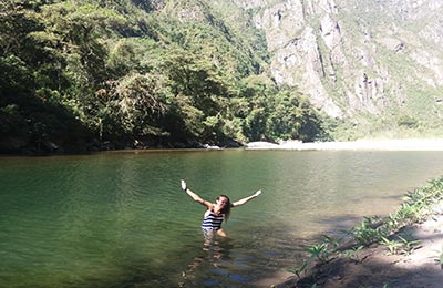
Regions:
[[234, 203], [230, 202], [229, 197], [226, 195], [219, 195], [216, 199], [215, 203], [207, 202], [203, 199], [200, 196], [192, 192], [187, 185], [186, 182], [182, 179], [182, 189], [187, 193], [195, 202], [198, 202], [203, 206], [206, 206], [207, 210], [205, 212], [205, 215], [203, 217], [203, 223], [202, 223], [202, 230], [204, 232], [205, 236], [212, 236], [215, 232], [219, 236], [226, 236], [226, 233], [222, 228], [222, 223], [223, 220], [227, 220], [230, 215], [230, 209], [234, 207], [238, 207], [240, 205], [244, 205], [245, 203], [249, 202], [250, 199], [254, 199], [258, 195], [261, 194], [261, 191], [257, 191], [253, 195], [245, 197], [243, 199], [236, 200]]

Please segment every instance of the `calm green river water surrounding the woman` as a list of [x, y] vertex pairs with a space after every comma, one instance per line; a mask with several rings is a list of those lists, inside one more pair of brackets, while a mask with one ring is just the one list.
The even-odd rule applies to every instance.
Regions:
[[[388, 215], [439, 152], [219, 151], [0, 158], [0, 287], [269, 287], [317, 235]], [[203, 198], [233, 200], [205, 244]]]

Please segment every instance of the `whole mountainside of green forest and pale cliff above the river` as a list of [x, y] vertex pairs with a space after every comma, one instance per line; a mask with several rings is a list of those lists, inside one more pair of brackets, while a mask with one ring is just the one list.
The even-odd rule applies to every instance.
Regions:
[[3, 0], [0, 153], [442, 136], [442, 14], [440, 0]]

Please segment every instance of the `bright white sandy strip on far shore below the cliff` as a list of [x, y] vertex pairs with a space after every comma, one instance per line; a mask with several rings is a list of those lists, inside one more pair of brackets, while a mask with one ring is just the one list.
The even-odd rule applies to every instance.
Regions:
[[280, 144], [251, 142], [246, 150], [296, 150], [296, 151], [443, 151], [443, 138], [373, 140], [353, 142], [286, 141]]

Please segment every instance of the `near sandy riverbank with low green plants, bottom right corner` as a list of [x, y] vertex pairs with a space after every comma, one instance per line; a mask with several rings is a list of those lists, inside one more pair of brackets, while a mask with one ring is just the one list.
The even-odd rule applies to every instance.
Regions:
[[[426, 191], [432, 193], [426, 194]], [[443, 176], [406, 194], [396, 214], [403, 207], [409, 208], [413, 205], [419, 207], [423, 202], [427, 203], [425, 208], [416, 215], [404, 217], [404, 224], [392, 230], [387, 236], [389, 240], [387, 239], [384, 244], [374, 241], [361, 249], [361, 244], [348, 239], [336, 246], [332, 253], [323, 255], [327, 258], [317, 258], [315, 261], [306, 259], [306, 267], [291, 269], [295, 272], [293, 276], [272, 287], [441, 287], [443, 282]], [[393, 217], [391, 215], [383, 218], [381, 223], [373, 224], [377, 226], [374, 229], [391, 225], [389, 222], [392, 222]], [[361, 227], [353, 229], [361, 229]], [[409, 241], [406, 244], [411, 245], [410, 250], [392, 253], [393, 246], [389, 247], [389, 245], [395, 241], [391, 239], [404, 239], [402, 236], [406, 239], [413, 237], [406, 240]]]

